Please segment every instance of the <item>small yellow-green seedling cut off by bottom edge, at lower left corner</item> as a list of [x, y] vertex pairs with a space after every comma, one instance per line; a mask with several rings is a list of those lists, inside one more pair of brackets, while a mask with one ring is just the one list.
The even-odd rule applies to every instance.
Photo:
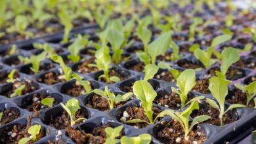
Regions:
[[41, 125], [33, 125], [28, 128], [28, 134], [31, 135], [31, 137], [24, 137], [18, 141], [18, 144], [26, 144], [28, 141], [37, 141], [37, 135], [40, 133]]

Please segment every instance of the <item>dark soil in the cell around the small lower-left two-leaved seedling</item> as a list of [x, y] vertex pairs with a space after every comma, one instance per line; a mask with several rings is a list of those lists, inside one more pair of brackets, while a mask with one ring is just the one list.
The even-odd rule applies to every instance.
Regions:
[[[82, 115], [81, 109], [79, 109], [75, 113], [75, 120], [77, 120], [78, 118], [85, 118]], [[83, 120], [78, 120], [77, 122], [75, 122], [75, 124], [80, 124], [81, 122], [83, 122]], [[56, 117], [51, 117], [51, 120], [49, 120], [49, 124], [47, 124], [47, 125], [53, 126], [54, 128], [56, 128], [58, 130], [65, 129], [68, 126], [70, 126], [70, 116], [68, 115], [68, 113], [66, 111], [63, 111], [61, 115], [58, 115]]]

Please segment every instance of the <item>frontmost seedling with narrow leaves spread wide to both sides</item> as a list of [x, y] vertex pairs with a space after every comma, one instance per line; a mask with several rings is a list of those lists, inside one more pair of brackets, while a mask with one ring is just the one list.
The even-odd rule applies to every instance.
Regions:
[[186, 108], [184, 111], [180, 112], [175, 112], [171, 109], [167, 109], [165, 111], [162, 111], [158, 117], [163, 117], [165, 115], [169, 115], [171, 118], [177, 120], [178, 122], [180, 122], [184, 132], [185, 132], [185, 136], [189, 134], [189, 132], [192, 130], [192, 128], [200, 123], [203, 122], [205, 120], [208, 120], [209, 118], [211, 118], [208, 115], [200, 115], [198, 117], [195, 117], [192, 120], [192, 123], [190, 124], [190, 115], [192, 113], [192, 111], [194, 111], [195, 109], [199, 109], [199, 105], [197, 101], [192, 101], [192, 103], [190, 103], [189, 107]]

